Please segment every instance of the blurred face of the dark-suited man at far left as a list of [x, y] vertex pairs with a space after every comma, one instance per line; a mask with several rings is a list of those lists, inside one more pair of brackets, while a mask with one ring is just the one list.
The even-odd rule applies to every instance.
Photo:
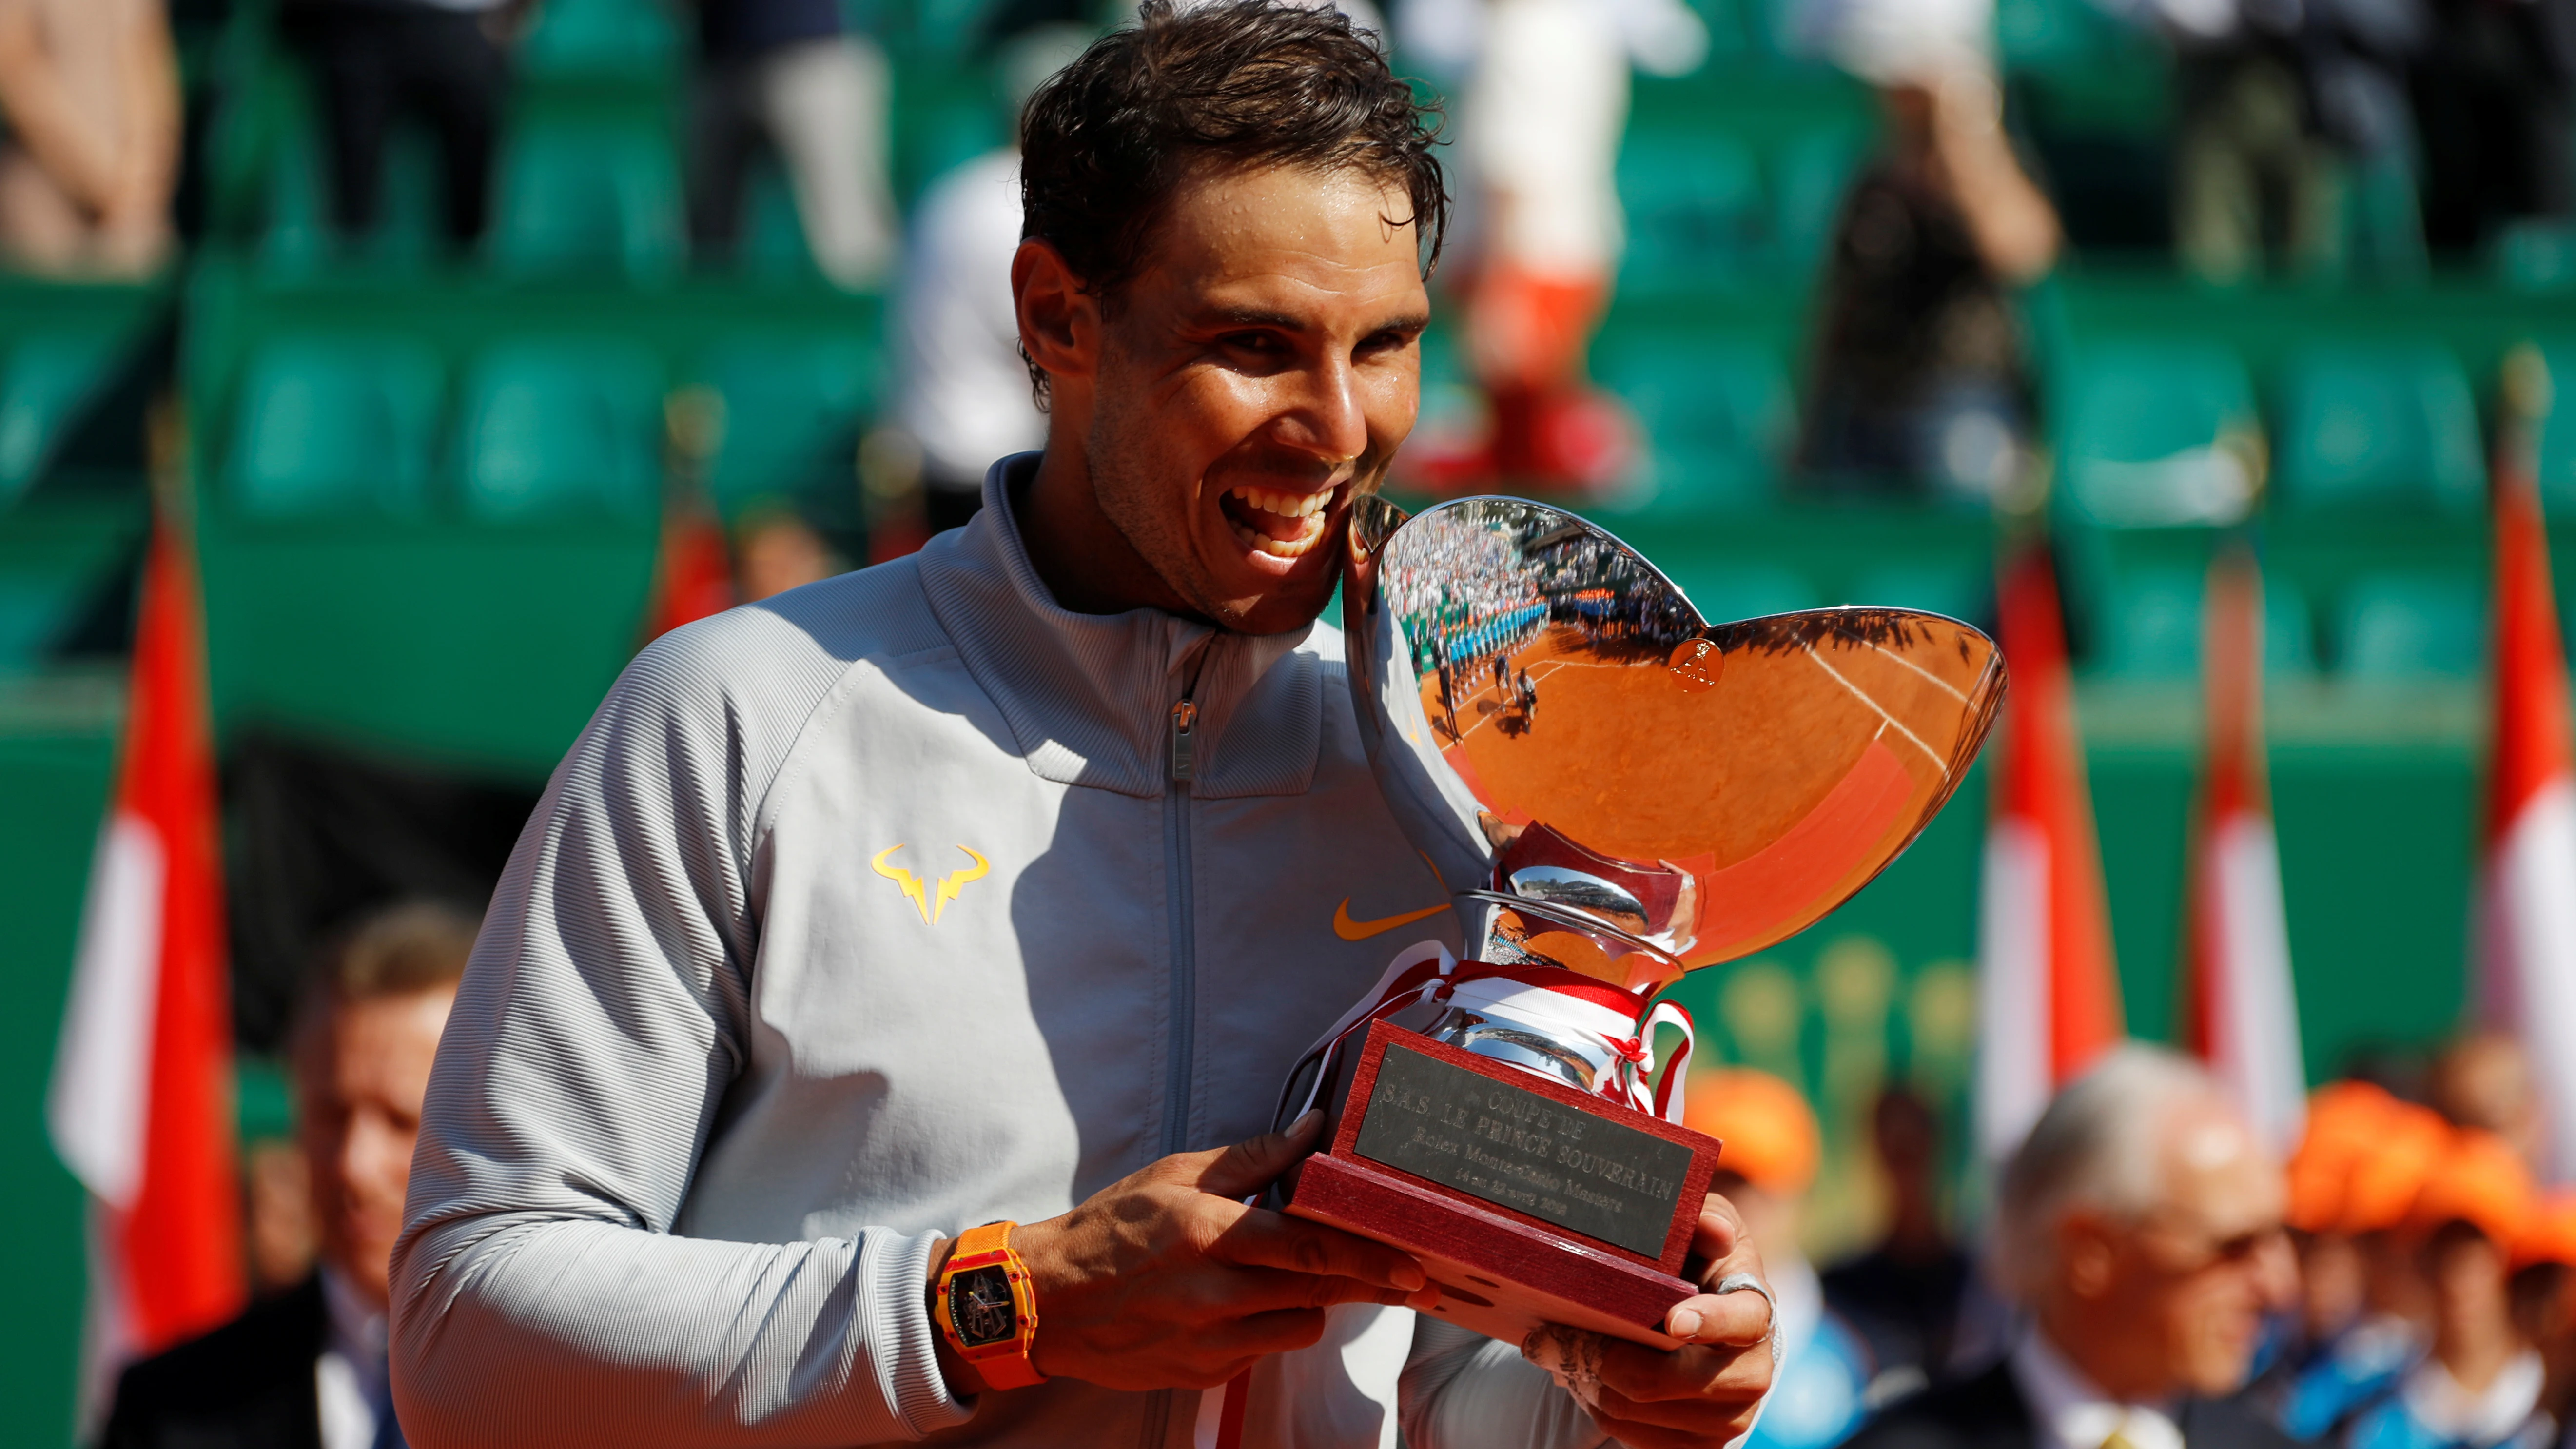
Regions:
[[340, 1003], [296, 1057], [296, 1134], [322, 1261], [374, 1302], [386, 1299], [420, 1098], [453, 1000], [453, 987], [438, 987]]

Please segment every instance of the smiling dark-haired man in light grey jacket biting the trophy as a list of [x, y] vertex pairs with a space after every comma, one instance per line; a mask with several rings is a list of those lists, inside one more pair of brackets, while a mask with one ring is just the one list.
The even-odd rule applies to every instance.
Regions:
[[[1030, 101], [1023, 186], [1046, 451], [920, 554], [647, 647], [510, 861], [397, 1250], [404, 1431], [1741, 1436], [1762, 1294], [1543, 1372], [1242, 1204], [1314, 1145], [1262, 1134], [1288, 1065], [1445, 915], [1314, 627], [1419, 397], [1412, 93], [1332, 10], [1151, 3]], [[1754, 1266], [1721, 1199], [1698, 1248]]]

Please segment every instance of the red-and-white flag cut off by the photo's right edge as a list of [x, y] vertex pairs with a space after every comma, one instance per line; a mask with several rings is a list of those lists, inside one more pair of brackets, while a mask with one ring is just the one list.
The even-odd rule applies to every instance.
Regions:
[[2576, 763], [2527, 449], [2506, 425], [2494, 467], [2494, 737], [2478, 871], [2478, 1008], [2522, 1036], [2532, 1057], [2548, 1109], [2548, 1168], [2563, 1181], [2576, 1176]]

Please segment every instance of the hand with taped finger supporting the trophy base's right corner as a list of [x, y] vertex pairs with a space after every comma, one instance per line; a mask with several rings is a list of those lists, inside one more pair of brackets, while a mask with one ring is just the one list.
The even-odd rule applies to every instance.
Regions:
[[[1734, 1274], [1762, 1276], [1731, 1201], [1708, 1194], [1690, 1240], [1692, 1276], [1713, 1289]], [[1577, 1328], [1540, 1328], [1522, 1343], [1577, 1403], [1628, 1449], [1721, 1446], [1744, 1436], [1772, 1382], [1772, 1307], [1757, 1292], [1703, 1292], [1672, 1305], [1664, 1333], [1680, 1348], [1646, 1348]]]

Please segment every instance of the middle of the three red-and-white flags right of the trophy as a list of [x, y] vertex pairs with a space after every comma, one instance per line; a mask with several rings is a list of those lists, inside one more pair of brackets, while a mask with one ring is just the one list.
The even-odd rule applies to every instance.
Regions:
[[2262, 570], [2244, 549], [2210, 562], [2200, 634], [2208, 743], [2192, 820], [2184, 1031], [2282, 1152], [2308, 1116], [2290, 923], [2262, 735]]

